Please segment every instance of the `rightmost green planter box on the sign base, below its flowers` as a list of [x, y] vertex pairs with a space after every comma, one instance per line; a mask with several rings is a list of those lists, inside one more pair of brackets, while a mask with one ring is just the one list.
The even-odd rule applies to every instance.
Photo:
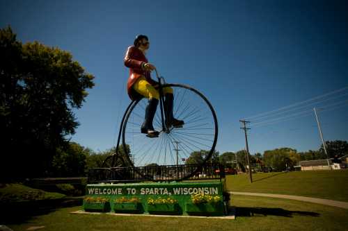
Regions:
[[222, 202], [200, 204], [187, 203], [186, 212], [187, 214], [194, 215], [223, 215], [225, 212], [225, 208]]

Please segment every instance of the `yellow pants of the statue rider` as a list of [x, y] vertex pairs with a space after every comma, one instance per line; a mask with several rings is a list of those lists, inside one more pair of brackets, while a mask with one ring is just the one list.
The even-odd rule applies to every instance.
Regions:
[[[141, 77], [138, 80], [136, 80], [136, 82], [133, 85], [133, 89], [139, 94], [141, 94], [142, 96], [144, 96], [145, 98], [159, 99], [158, 90], [154, 86], [150, 85], [150, 83], [148, 83], [145, 77]], [[164, 95], [173, 94], [173, 88], [171, 87], [164, 87], [162, 90]]]

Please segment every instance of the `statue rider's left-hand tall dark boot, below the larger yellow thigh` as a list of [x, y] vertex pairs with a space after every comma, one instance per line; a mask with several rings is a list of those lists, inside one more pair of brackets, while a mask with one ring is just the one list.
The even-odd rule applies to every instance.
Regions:
[[157, 105], [158, 99], [149, 99], [149, 103], [145, 109], [145, 120], [143, 122], [143, 125], [141, 125], [141, 133], [148, 134], [147, 136], [150, 138], [158, 137], [159, 135], [159, 132], [157, 132], [152, 126], [152, 121], [155, 117]]

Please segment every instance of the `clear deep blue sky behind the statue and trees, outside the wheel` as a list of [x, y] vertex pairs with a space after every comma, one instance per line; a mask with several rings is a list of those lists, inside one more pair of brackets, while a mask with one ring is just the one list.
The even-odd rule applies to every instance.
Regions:
[[[244, 148], [239, 119], [257, 121], [253, 116], [337, 89], [342, 91], [322, 98], [326, 101], [305, 103], [293, 112], [341, 102], [319, 112], [319, 117], [324, 139], [348, 140], [347, 5], [347, 1], [1, 0], [0, 26], [10, 24], [22, 42], [37, 40], [70, 51], [95, 76], [95, 87], [76, 111], [81, 125], [72, 136], [94, 151], [116, 144], [120, 117], [130, 102], [123, 57], [135, 35], [148, 35], [148, 59], [167, 82], [191, 85], [214, 105], [219, 121], [216, 150], [222, 153]], [[291, 120], [278, 116], [278, 123], [255, 128], [250, 124], [251, 153], [283, 146], [298, 151], [319, 148], [313, 113]]]

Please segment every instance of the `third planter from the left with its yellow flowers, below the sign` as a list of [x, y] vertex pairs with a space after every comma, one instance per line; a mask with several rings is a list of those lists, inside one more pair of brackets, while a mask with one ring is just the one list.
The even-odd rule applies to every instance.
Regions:
[[148, 198], [148, 212], [150, 214], [180, 214], [177, 200], [173, 198]]

